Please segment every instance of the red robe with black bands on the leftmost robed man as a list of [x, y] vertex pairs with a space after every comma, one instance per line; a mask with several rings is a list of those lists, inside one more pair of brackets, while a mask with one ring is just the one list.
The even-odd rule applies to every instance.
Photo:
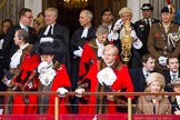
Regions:
[[[19, 76], [14, 77], [12, 81], [14, 84], [19, 86], [21, 89], [20, 91], [37, 91], [39, 80], [36, 76], [36, 68], [40, 63], [38, 54], [27, 54], [22, 66], [20, 68]], [[28, 81], [32, 80], [32, 87], [28, 87]], [[19, 90], [18, 90], [19, 91]], [[12, 114], [34, 114], [37, 113], [37, 103], [38, 103], [38, 96], [36, 94], [27, 94], [27, 99], [29, 99], [29, 103], [24, 103], [23, 99], [24, 96], [14, 94], [13, 96], [13, 108]]]

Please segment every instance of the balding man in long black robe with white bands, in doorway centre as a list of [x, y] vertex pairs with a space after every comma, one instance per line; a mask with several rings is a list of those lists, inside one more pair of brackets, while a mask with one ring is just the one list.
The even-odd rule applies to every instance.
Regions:
[[[79, 62], [82, 56], [83, 46], [87, 41], [96, 38], [96, 28], [92, 26], [93, 14], [89, 10], [82, 10], [79, 16], [80, 28], [74, 31], [71, 38], [71, 52], [72, 52], [72, 66], [71, 66], [71, 84], [72, 90], [77, 88], [79, 78]], [[76, 98], [74, 98], [76, 99]], [[72, 99], [72, 103], [77, 104], [78, 99]], [[78, 112], [78, 107], [72, 107], [72, 112]]]

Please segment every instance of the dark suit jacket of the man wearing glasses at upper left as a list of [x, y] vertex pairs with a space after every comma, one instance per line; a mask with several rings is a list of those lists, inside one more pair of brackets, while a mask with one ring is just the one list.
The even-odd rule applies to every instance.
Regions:
[[[19, 23], [16, 24], [16, 26], [10, 27], [8, 29], [6, 36], [4, 36], [4, 42], [3, 42], [3, 46], [2, 46], [4, 57], [11, 58], [11, 56], [19, 48], [17, 44], [14, 44], [14, 41], [13, 41], [16, 30], [18, 30], [18, 29], [21, 29]], [[36, 30], [33, 28], [31, 28], [31, 27], [28, 27], [28, 32], [29, 32], [29, 38], [30, 38], [29, 43], [34, 44], [34, 41], [37, 39]]]

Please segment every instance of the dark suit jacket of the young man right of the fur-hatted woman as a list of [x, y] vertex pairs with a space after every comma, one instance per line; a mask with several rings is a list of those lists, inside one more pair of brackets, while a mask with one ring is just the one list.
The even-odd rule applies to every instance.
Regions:
[[[166, 90], [167, 92], [173, 92], [173, 89], [170, 88], [170, 87], [168, 87], [168, 83], [171, 82], [170, 70], [164, 71], [164, 72], [163, 72], [163, 76], [164, 76], [164, 78], [166, 78], [166, 88], [164, 88], [164, 90]], [[180, 72], [179, 72], [179, 77], [178, 77], [178, 78], [180, 78]]]

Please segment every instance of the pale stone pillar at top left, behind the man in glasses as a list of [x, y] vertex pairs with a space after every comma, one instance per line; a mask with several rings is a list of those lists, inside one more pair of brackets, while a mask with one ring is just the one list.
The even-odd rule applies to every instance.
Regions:
[[24, 7], [30, 8], [33, 13], [33, 18], [42, 11], [42, 0], [24, 0]]

